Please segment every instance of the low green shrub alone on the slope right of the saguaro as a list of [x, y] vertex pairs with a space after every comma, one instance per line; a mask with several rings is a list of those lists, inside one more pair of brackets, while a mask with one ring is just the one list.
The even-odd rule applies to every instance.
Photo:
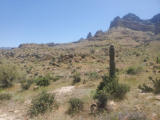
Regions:
[[142, 67], [129, 67], [127, 74], [136, 75], [142, 71]]

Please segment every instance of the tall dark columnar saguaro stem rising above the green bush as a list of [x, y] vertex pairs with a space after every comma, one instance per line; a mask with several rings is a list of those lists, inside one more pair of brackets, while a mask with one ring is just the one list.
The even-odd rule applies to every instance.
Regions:
[[109, 57], [110, 57], [110, 71], [109, 71], [109, 76], [110, 77], [114, 77], [115, 76], [115, 50], [114, 50], [114, 46], [111, 45], [109, 48]]

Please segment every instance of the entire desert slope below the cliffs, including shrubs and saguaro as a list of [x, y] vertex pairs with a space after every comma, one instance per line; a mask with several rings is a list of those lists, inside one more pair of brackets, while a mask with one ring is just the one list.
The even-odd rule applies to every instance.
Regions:
[[159, 39], [111, 27], [75, 43], [0, 50], [0, 119], [159, 120]]

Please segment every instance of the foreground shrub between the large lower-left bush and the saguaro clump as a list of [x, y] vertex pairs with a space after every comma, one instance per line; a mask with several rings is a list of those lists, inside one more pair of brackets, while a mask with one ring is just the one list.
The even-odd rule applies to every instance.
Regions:
[[83, 110], [84, 103], [79, 98], [71, 98], [69, 104], [68, 114], [78, 113]]

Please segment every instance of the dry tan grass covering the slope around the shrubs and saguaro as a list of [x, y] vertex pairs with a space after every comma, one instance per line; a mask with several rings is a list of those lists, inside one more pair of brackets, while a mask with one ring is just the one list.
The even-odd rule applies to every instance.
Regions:
[[[137, 38], [139, 41], [134, 38]], [[139, 84], [148, 81], [149, 76], [155, 76], [153, 66], [156, 64], [156, 57], [160, 55], [157, 52], [160, 50], [160, 42], [152, 41], [145, 46], [144, 40], [148, 41], [151, 39], [148, 33], [123, 28], [113, 29], [101, 36], [101, 38], [96, 39], [94, 41], [86, 40], [81, 43], [64, 44], [55, 47], [32, 45], [29, 49], [17, 48], [10, 51], [0, 51], [2, 58], [12, 61], [22, 71], [26, 71], [27, 78], [34, 79], [39, 75], [48, 73], [62, 76], [56, 82], [52, 81], [48, 87], [41, 87], [37, 90], [33, 90], [35, 86], [33, 84], [29, 90], [22, 92], [18, 83], [11, 88], [0, 90], [13, 95], [11, 100], [0, 103], [0, 111], [15, 116], [16, 113], [9, 112], [10, 108], [13, 107], [13, 111], [17, 109], [22, 111], [18, 115], [21, 119], [24, 119], [33, 96], [44, 89], [48, 92], [54, 92], [61, 87], [71, 86], [73, 80], [71, 76], [76, 70], [81, 74], [82, 79], [80, 83], [75, 85], [76, 89], [58, 98], [61, 99], [58, 109], [39, 115], [33, 118], [33, 120], [103, 120], [109, 119], [107, 118], [108, 116], [114, 117], [119, 113], [127, 113], [134, 110], [143, 111], [149, 118], [153, 118], [153, 116], [158, 118], [160, 116], [160, 104], [159, 101], [155, 100], [155, 95], [142, 94], [137, 87]], [[98, 39], [101, 41], [98, 41]], [[154, 38], [152, 39], [154, 40]], [[107, 49], [110, 44], [114, 44], [116, 48], [116, 66], [119, 70], [119, 81], [128, 84], [131, 90], [123, 101], [115, 102], [115, 109], [111, 113], [93, 116], [90, 115], [89, 110], [90, 105], [94, 102], [91, 91], [96, 89], [101, 78], [89, 79], [88, 74], [92, 72], [96, 72], [99, 76], [108, 74], [109, 58]], [[94, 49], [95, 53], [91, 54], [91, 49]], [[14, 57], [9, 55], [10, 52], [13, 52]], [[75, 56], [73, 59], [67, 58], [65, 60], [71, 60], [71, 62], [56, 62], [59, 66], [49, 64], [53, 57], [59, 58], [62, 54], [74, 54]], [[82, 54], [86, 55], [86, 57], [82, 58]], [[146, 58], [147, 61], [144, 62]], [[137, 75], [127, 75], [126, 70], [130, 66], [142, 66], [143, 71]], [[66, 111], [68, 109], [68, 100], [74, 96], [84, 101], [84, 111], [72, 117], [67, 115]]]

